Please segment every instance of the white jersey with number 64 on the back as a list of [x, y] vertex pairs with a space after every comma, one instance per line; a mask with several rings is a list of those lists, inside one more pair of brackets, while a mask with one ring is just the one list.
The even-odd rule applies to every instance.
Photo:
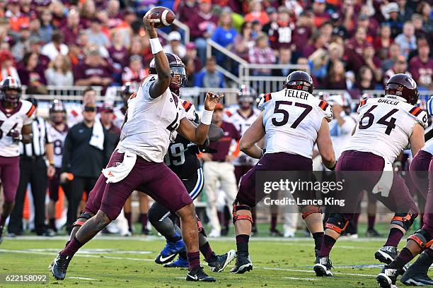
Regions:
[[427, 112], [393, 96], [362, 100], [358, 113], [345, 150], [371, 152], [391, 163], [408, 146], [415, 124], [427, 128]]

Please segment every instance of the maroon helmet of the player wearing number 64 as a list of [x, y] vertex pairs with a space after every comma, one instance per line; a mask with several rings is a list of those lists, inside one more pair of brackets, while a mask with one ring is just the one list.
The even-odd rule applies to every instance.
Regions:
[[406, 102], [415, 105], [418, 102], [420, 92], [418, 92], [415, 80], [406, 74], [400, 73], [392, 76], [386, 82], [385, 95], [402, 97]]

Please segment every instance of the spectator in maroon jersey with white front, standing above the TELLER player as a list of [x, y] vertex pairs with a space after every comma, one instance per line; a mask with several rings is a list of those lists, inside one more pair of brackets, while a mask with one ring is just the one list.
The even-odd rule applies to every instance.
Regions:
[[293, 40], [293, 31], [295, 25], [291, 22], [290, 11], [284, 6], [278, 8], [278, 18], [270, 25], [270, 30], [267, 33], [272, 49], [281, 47], [290, 47]]

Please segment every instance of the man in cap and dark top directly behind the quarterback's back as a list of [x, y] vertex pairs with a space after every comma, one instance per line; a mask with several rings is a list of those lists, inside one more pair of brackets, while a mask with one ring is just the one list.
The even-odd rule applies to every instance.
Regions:
[[120, 128], [115, 126], [112, 121], [115, 119], [113, 107], [109, 104], [103, 104], [100, 111], [100, 123], [104, 128], [105, 146], [104, 153], [105, 157], [103, 160], [103, 167], [107, 166], [108, 160], [110, 160], [112, 152], [115, 150], [117, 143], [120, 140]]

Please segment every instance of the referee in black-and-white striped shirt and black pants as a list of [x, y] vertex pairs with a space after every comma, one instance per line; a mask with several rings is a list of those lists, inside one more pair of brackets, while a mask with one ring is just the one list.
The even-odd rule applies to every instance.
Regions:
[[[29, 98], [37, 107], [37, 100]], [[37, 112], [35, 112], [36, 114]], [[12, 210], [8, 224], [11, 236], [23, 234], [23, 205], [25, 191], [30, 182], [35, 207], [35, 231], [39, 236], [53, 236], [54, 232], [45, 225], [45, 194], [47, 193], [48, 177], [54, 176], [54, 148], [49, 134], [47, 122], [40, 116], [32, 123], [32, 141], [23, 145], [20, 143], [20, 182], [16, 191], [15, 207]], [[47, 161], [46, 161], [46, 160]]]

